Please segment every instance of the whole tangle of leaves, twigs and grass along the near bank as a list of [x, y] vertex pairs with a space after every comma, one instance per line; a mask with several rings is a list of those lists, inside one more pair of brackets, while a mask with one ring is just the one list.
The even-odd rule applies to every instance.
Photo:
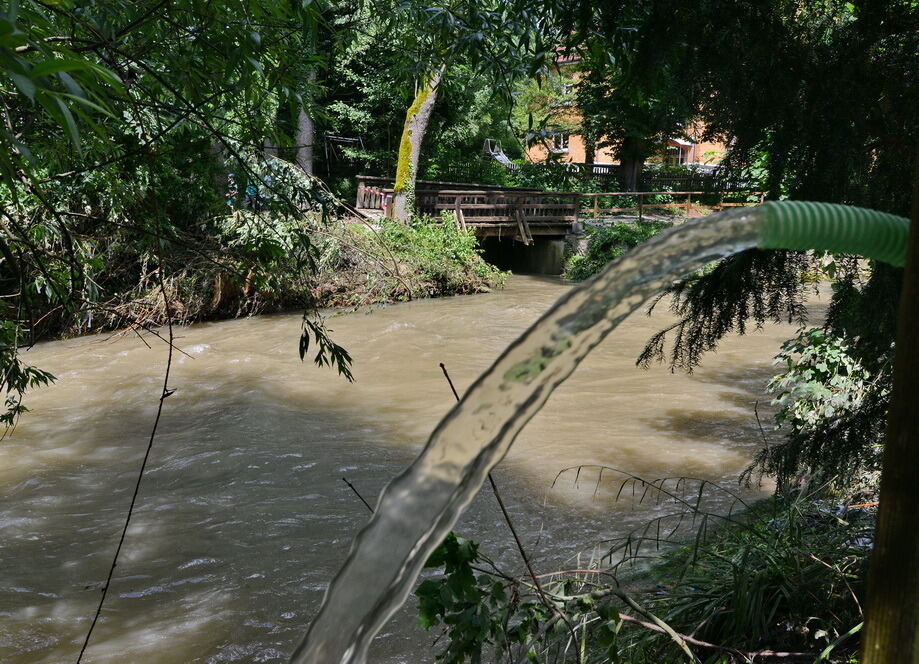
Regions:
[[[676, 511], [613, 542], [596, 561], [608, 567], [592, 566], [595, 574], [551, 575], [543, 584], [549, 607], [526, 577], [486, 571], [478, 547], [451, 535], [429, 561], [443, 572], [416, 592], [422, 625], [442, 626], [448, 639], [438, 660], [478, 662], [487, 645], [493, 661], [686, 661], [670, 630], [712, 644], [689, 646], [710, 664], [761, 650], [846, 661], [861, 621], [872, 512], [798, 494], [725, 517], [702, 507], [704, 484], [634, 479]], [[697, 499], [680, 498], [694, 491]], [[673, 533], [689, 523], [692, 538], [675, 545]], [[643, 564], [643, 550], [662, 547]]]

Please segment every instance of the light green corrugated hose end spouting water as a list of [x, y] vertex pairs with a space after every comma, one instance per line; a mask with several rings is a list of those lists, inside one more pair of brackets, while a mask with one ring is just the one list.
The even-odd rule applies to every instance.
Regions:
[[758, 208], [762, 249], [823, 249], [902, 267], [909, 219], [832, 203], [770, 201]]

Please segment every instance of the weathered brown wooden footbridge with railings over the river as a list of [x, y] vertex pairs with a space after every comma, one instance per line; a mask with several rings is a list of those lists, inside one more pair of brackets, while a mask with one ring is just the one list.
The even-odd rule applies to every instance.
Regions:
[[[580, 229], [579, 215], [597, 218], [637, 211], [641, 219], [649, 208], [680, 208], [689, 216], [697, 207], [720, 210], [762, 203], [761, 192], [747, 191], [580, 194], [449, 182], [419, 181], [417, 185], [415, 207], [422, 215], [437, 217], [444, 211], [450, 211], [456, 215], [460, 228], [472, 228], [480, 237], [516, 238], [524, 244], [532, 244], [536, 237], [561, 239], [577, 232]], [[751, 193], [756, 196], [751, 196]], [[392, 195], [392, 180], [358, 176], [359, 211], [375, 216], [386, 215], [392, 209], [389, 205]], [[659, 196], [666, 196], [667, 202], [649, 200]], [[711, 201], [700, 203], [703, 197]], [[737, 201], [738, 197], [743, 200]], [[676, 201], [678, 198], [682, 200]], [[600, 206], [601, 201], [612, 203], [623, 199], [625, 201], [619, 207]], [[635, 201], [634, 205], [626, 206], [626, 202], [632, 201]]]

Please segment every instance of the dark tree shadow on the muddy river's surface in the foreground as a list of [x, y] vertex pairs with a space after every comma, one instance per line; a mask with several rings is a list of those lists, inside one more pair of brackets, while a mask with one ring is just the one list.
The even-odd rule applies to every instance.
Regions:
[[[197, 373], [215, 385], [229, 376]], [[393, 444], [400, 433], [372, 413], [276, 396], [254, 380], [216, 401], [181, 391], [167, 401], [87, 661], [287, 661], [368, 516], [341, 477], [372, 505], [412, 449]], [[38, 467], [7, 490], [0, 661], [75, 659], [151, 423], [147, 404], [83, 413], [80, 426], [105, 441], [105, 454]], [[64, 437], [34, 441], [36, 451]], [[570, 513], [543, 509], [524, 482], [500, 469], [496, 476], [539, 562], [560, 563], [603, 530], [587, 516], [574, 526]], [[516, 571], [490, 495], [476, 499], [459, 530]], [[413, 626], [413, 611], [410, 602], [379, 637], [372, 661], [409, 661], [419, 640], [433, 638]]]

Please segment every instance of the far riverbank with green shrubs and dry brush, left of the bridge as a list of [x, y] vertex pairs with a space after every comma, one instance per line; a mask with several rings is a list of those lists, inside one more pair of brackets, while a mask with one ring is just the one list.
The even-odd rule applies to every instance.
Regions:
[[[265, 224], [246, 210], [232, 213], [223, 229], [233, 251], [221, 260], [170, 257], [175, 267], [162, 283], [156, 270], [138, 265], [139, 279], [104, 302], [86, 303], [60, 336], [486, 293], [507, 278], [482, 259], [474, 234], [449, 218], [373, 225], [332, 219], [296, 230], [278, 220], [270, 230]], [[240, 245], [248, 260], [237, 258]]]

